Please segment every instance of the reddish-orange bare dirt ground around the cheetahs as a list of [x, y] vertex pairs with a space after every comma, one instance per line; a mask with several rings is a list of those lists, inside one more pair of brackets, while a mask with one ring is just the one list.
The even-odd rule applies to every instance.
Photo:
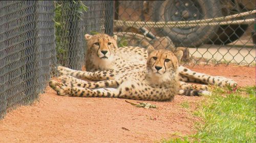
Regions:
[[[255, 85], [255, 67], [195, 66], [190, 69]], [[152, 102], [156, 109], [135, 107], [117, 98], [60, 97], [47, 87], [39, 101], [22, 106], [0, 121], [0, 142], [154, 142], [174, 133], [195, 133], [192, 111], [203, 97], [176, 96]], [[129, 100], [138, 102], [136, 100]], [[182, 105], [186, 105], [184, 107]]]

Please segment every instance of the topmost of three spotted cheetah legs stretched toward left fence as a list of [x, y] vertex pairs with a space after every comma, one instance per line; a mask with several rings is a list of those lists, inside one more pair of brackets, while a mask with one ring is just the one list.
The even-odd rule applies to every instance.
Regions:
[[58, 73], [60, 75], [71, 75], [73, 77], [82, 79], [82, 80], [92, 80], [92, 81], [101, 81], [101, 80], [110, 80], [114, 79], [114, 70], [108, 71], [97, 71], [97, 72], [88, 72], [88, 71], [78, 71], [72, 70], [70, 68], [58, 66]]

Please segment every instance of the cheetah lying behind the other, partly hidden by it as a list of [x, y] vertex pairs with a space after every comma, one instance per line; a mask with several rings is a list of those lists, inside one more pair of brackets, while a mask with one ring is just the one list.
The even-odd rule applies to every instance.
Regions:
[[[147, 51], [145, 48], [132, 46], [118, 48], [116, 35], [112, 37], [106, 34], [86, 34], [84, 38], [87, 43], [87, 52], [85, 55], [87, 71], [117, 70], [135, 64], [142, 64], [144, 66], [141, 70], [145, 69], [147, 60]], [[170, 50], [173, 50], [173, 48]], [[194, 72], [183, 66], [179, 66], [178, 72], [179, 80], [184, 82], [216, 84], [219, 87], [237, 85], [232, 79]]]

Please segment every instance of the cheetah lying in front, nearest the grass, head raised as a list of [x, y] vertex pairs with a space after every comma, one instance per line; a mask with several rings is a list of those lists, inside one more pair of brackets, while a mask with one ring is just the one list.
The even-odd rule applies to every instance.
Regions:
[[[74, 97], [115, 97], [134, 100], [166, 101], [172, 100], [175, 95], [199, 95], [206, 90], [193, 90], [189, 84], [180, 85], [178, 79], [179, 60], [183, 52], [166, 49], [147, 49], [148, 58], [146, 70], [127, 73], [125, 70], [142, 65], [133, 65], [122, 70], [107, 70], [97, 72], [75, 71], [70, 75], [86, 76], [98, 81], [84, 81], [73, 76], [60, 76], [62, 82], [51, 80], [49, 85], [60, 96]], [[123, 72], [124, 71], [124, 72]], [[122, 74], [113, 73], [120, 72]], [[183, 87], [182, 87], [183, 86]], [[195, 87], [193, 87], [195, 88]], [[204, 88], [204, 87], [202, 87]]]

